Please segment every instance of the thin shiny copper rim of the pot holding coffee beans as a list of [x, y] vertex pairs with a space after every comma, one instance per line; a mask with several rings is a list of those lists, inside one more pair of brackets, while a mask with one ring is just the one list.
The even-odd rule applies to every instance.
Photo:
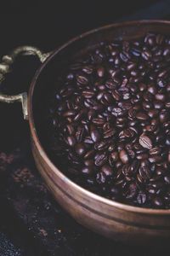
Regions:
[[144, 213], [147, 215], [170, 215], [170, 209], [153, 209], [153, 208], [145, 208], [145, 207], [135, 207], [130, 206], [121, 202], [117, 201], [111, 201], [110, 199], [106, 199], [103, 196], [94, 194], [91, 191], [88, 191], [88, 189], [82, 188], [77, 183], [74, 183], [69, 177], [66, 177], [65, 174], [59, 171], [57, 166], [54, 165], [53, 161], [49, 159], [48, 154], [46, 154], [45, 149], [42, 147], [42, 144], [39, 140], [39, 137], [37, 136], [37, 129], [35, 125], [35, 121], [33, 118], [33, 107], [32, 107], [32, 97], [34, 93], [35, 86], [37, 84], [37, 79], [42, 73], [42, 70], [48, 65], [48, 62], [51, 61], [55, 55], [59, 54], [59, 52], [63, 49], [65, 49], [70, 44], [78, 41], [81, 38], [86, 38], [88, 35], [93, 34], [95, 32], [107, 30], [114, 27], [122, 27], [122, 26], [140, 26], [140, 25], [169, 25], [170, 26], [170, 20], [133, 20], [133, 21], [123, 21], [123, 22], [117, 22], [105, 26], [99, 26], [98, 28], [94, 28], [88, 32], [83, 32], [81, 35], [71, 38], [69, 41], [67, 41], [65, 44], [62, 44], [57, 49], [54, 49], [52, 51], [51, 55], [48, 56], [47, 60], [42, 63], [42, 65], [37, 69], [37, 72], [35, 73], [33, 79], [31, 80], [31, 86], [28, 94], [28, 119], [29, 119], [29, 125], [31, 129], [31, 137], [33, 139], [33, 142], [35, 143], [39, 154], [41, 155], [42, 159], [46, 161], [47, 165], [50, 167], [50, 169], [59, 176], [59, 178], [68, 186], [71, 186], [73, 189], [76, 189], [77, 191], [80, 191], [80, 193], [87, 195], [88, 197], [92, 198], [95, 201], [99, 201], [101, 203], [104, 203], [108, 205], [109, 207], [116, 207], [118, 209], [127, 211], [127, 212], [136, 212], [136, 213]]

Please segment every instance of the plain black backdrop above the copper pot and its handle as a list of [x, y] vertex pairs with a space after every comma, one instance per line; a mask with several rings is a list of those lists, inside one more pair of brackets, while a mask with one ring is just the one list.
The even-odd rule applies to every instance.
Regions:
[[19, 44], [54, 49], [67, 39], [116, 20], [166, 19], [169, 0], [1, 1], [1, 52]]

